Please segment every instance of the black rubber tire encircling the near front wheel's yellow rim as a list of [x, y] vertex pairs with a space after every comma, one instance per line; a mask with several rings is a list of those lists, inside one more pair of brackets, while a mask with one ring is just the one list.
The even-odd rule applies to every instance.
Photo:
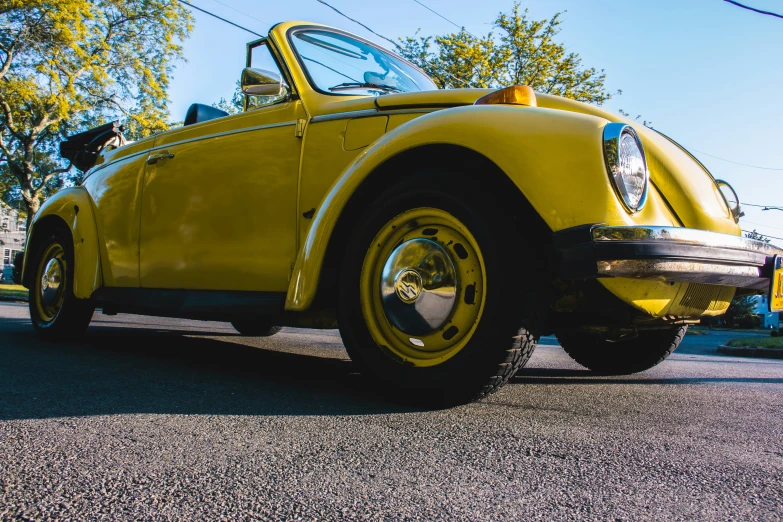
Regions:
[[[426, 367], [403, 363], [376, 342], [363, 317], [359, 288], [376, 234], [395, 216], [419, 208], [448, 212], [464, 224], [486, 267], [484, 310], [472, 336], [456, 355]], [[538, 341], [534, 314], [526, 310], [534, 252], [493, 191], [454, 173], [413, 175], [381, 194], [354, 223], [340, 274], [338, 324], [349, 356], [374, 385], [403, 402], [449, 406], [495, 392], [527, 363]]]

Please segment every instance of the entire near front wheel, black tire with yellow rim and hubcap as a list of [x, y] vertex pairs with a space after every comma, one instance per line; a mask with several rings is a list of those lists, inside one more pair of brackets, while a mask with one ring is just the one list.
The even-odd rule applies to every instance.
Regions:
[[537, 336], [515, 221], [480, 191], [440, 177], [394, 187], [357, 220], [340, 278], [349, 355], [385, 390], [455, 404], [500, 388]]

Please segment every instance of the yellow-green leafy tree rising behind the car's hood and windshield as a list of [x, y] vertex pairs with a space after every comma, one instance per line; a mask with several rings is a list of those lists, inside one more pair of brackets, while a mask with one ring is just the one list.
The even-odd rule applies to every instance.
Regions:
[[441, 88], [523, 84], [538, 92], [601, 105], [612, 97], [604, 87], [606, 74], [582, 68], [578, 54], [555, 42], [561, 15], [530, 20], [528, 10], [522, 11], [517, 2], [493, 22], [498, 36], [493, 32], [475, 36], [462, 29], [443, 36], [401, 38], [398, 50]]

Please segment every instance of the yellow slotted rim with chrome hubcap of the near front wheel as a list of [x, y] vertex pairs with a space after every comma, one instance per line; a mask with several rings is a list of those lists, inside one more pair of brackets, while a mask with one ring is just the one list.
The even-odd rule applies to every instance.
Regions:
[[484, 309], [486, 272], [478, 243], [435, 208], [396, 216], [362, 264], [362, 315], [373, 340], [414, 366], [435, 366], [468, 343]]

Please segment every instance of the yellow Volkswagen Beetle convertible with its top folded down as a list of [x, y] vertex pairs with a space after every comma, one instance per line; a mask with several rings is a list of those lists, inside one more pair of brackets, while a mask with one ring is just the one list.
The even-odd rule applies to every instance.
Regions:
[[526, 86], [440, 90], [386, 49], [291, 22], [247, 47], [245, 110], [134, 143], [64, 142], [80, 186], [35, 216], [35, 330], [95, 309], [339, 328], [385, 390], [458, 403], [555, 334], [601, 374], [651, 368], [738, 293], [783, 309], [783, 250], [668, 137]]

